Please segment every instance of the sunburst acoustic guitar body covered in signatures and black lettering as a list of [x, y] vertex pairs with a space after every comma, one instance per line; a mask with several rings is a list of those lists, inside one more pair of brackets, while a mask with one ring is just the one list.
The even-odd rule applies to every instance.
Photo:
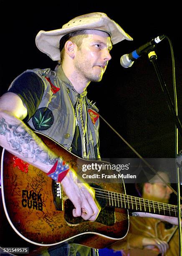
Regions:
[[[50, 138], [39, 137], [52, 151], [63, 156], [75, 169], [78, 168], [76, 156]], [[61, 197], [55, 192], [58, 189], [61, 195], [60, 184], [40, 169], [25, 162], [18, 163], [8, 151], [3, 150], [2, 157], [3, 206], [10, 225], [21, 238], [38, 246], [57, 246], [68, 242], [104, 248], [126, 236], [129, 228], [127, 210], [103, 204], [94, 222], [74, 218], [71, 201], [64, 194]], [[94, 186], [125, 194], [124, 184]]]

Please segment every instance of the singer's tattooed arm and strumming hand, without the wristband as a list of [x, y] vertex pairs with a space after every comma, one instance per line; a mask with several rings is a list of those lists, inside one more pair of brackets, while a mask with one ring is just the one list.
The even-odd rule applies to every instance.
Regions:
[[[20, 97], [12, 92], [0, 98], [0, 146], [18, 156], [43, 172], [48, 173], [59, 156], [28, 128], [23, 119], [27, 109]], [[73, 202], [73, 216], [84, 220], [95, 220], [100, 207], [94, 200], [94, 190], [88, 184], [77, 183], [77, 177], [71, 169], [62, 180], [63, 189]]]

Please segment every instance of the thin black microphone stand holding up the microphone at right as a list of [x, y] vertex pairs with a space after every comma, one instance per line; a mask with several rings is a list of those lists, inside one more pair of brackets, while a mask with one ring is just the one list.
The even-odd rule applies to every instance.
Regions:
[[[149, 60], [152, 62], [153, 66], [154, 66], [155, 72], [157, 74], [157, 77], [159, 79], [160, 85], [162, 87], [162, 91], [164, 92], [164, 95], [165, 95], [165, 97], [167, 99], [167, 104], [168, 104], [169, 110], [172, 113], [173, 120], [174, 120], [174, 123], [176, 125], [176, 128], [178, 129], [180, 135], [182, 136], [182, 125], [181, 125], [180, 120], [179, 120], [179, 118], [178, 118], [178, 116], [176, 114], [176, 111], [174, 109], [174, 105], [172, 103], [171, 97], [169, 95], [169, 92], [167, 90], [166, 84], [165, 84], [164, 79], [162, 77], [162, 73], [161, 73], [161, 71], [159, 69], [159, 65], [157, 63], [157, 55], [156, 55], [156, 53], [154, 51], [154, 46], [150, 47], [150, 49], [148, 51], [148, 56], [149, 56]], [[181, 232], [179, 168], [177, 168], [176, 176], [177, 176], [177, 192], [178, 192], [177, 193], [177, 201], [178, 201], [179, 255], [181, 256], [182, 255], [182, 232]]]

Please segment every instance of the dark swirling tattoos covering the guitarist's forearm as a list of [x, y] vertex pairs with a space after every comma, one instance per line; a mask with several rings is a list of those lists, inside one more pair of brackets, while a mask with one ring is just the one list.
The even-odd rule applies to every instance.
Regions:
[[52, 165], [57, 161], [56, 156], [43, 146], [40, 138], [35, 138], [33, 131], [25, 129], [24, 123], [10, 124], [5, 118], [0, 118], [0, 135], [6, 137], [10, 149], [17, 151], [29, 162], [40, 161]]

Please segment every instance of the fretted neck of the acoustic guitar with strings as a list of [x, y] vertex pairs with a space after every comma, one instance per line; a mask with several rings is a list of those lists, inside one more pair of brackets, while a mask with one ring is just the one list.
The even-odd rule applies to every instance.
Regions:
[[102, 189], [96, 189], [96, 197], [104, 198], [106, 204], [110, 207], [123, 208], [133, 212], [148, 212], [172, 217], [178, 216], [176, 205], [169, 205]]

